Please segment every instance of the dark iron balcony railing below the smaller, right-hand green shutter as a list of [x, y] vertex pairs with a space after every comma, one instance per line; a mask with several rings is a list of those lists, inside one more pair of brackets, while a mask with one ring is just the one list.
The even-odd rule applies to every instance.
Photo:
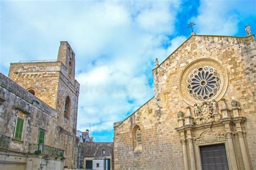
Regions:
[[29, 144], [29, 152], [36, 154], [43, 153], [46, 155], [53, 155], [57, 157], [64, 156], [64, 150], [44, 144]]

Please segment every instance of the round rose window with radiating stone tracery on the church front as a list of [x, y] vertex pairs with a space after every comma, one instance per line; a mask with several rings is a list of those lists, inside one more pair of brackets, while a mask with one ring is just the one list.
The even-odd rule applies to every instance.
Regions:
[[220, 74], [211, 66], [194, 69], [187, 77], [188, 94], [199, 101], [209, 100], [220, 89]]

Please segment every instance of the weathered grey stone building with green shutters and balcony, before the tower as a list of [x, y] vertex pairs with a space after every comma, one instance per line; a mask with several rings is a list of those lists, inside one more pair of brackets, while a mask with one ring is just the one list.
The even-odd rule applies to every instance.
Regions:
[[[48, 153], [35, 154], [42, 147], [38, 144], [58, 149], [51, 130], [57, 124], [56, 110], [1, 73], [0, 98], [0, 169], [39, 169], [51, 151], [45, 148]], [[49, 155], [48, 167], [64, 167], [60, 154], [64, 151], [59, 151], [59, 155]]]

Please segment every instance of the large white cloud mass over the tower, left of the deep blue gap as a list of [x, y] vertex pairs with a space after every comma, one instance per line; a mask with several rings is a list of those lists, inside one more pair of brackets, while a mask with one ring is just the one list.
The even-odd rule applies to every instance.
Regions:
[[6, 2], [2, 13], [11, 15], [1, 21], [9, 29], [1, 32], [1, 55], [12, 55], [1, 57], [2, 66], [21, 57], [56, 59], [58, 41], [68, 40], [81, 84], [78, 129], [91, 123], [92, 132], [113, 130], [113, 122], [153, 96], [147, 75], [154, 59], [163, 60], [185, 39], [162, 46], [174, 30], [178, 6], [179, 1]]

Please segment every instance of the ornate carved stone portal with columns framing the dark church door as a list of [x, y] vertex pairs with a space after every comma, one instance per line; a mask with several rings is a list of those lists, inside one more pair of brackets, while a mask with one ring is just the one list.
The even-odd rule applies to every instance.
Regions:
[[[245, 139], [246, 117], [241, 116], [239, 102], [232, 100], [232, 109], [226, 107], [224, 98], [220, 103], [214, 102], [198, 104], [194, 108], [194, 117], [189, 106], [186, 107], [186, 116], [182, 111], [177, 114], [179, 126], [176, 130], [183, 148], [184, 169], [203, 169], [199, 147], [223, 143], [230, 169], [252, 169]], [[240, 155], [235, 144], [239, 146]]]

